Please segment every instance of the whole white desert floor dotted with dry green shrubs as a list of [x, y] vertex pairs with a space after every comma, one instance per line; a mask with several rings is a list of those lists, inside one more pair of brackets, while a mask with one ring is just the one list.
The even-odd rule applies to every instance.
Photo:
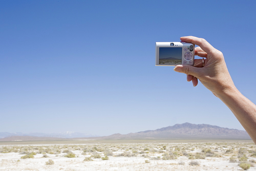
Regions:
[[0, 170], [256, 170], [252, 141], [15, 143], [1, 144]]

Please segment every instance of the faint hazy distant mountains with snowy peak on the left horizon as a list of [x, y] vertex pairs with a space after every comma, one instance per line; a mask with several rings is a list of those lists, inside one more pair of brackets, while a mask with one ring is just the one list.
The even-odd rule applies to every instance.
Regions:
[[84, 133], [79, 133], [79, 132], [71, 132], [71, 131], [61, 132], [61, 133], [50, 133], [50, 134], [45, 134], [45, 133], [24, 134], [21, 132], [17, 132], [17, 133], [0, 132], [0, 138], [11, 137], [11, 136], [77, 138], [77, 137], [97, 137], [98, 135], [89, 135], [89, 134], [84, 134]]

